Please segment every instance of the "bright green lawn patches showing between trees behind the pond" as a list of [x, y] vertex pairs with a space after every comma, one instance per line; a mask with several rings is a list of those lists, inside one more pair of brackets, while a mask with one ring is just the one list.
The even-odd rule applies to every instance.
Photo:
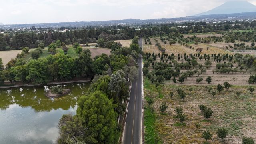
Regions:
[[[25, 55], [24, 60], [26, 60], [26, 62], [30, 62], [30, 60], [32, 60], [31, 58], [31, 52], [33, 50], [35, 50], [36, 48], [30, 49], [30, 51], [28, 52], [28, 54]], [[56, 48], [56, 53], [61, 53], [64, 54], [64, 51], [62, 50], [62, 48]], [[48, 52], [48, 48], [45, 47], [43, 50], [43, 53], [40, 54], [40, 58], [46, 58], [50, 53]], [[79, 54], [76, 53], [76, 50], [74, 50], [73, 47], [69, 47], [68, 49], [68, 54], [72, 57], [72, 58], [78, 58]]]

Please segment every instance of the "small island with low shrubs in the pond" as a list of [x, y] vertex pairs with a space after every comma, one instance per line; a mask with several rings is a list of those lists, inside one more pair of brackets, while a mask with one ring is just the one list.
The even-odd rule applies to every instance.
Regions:
[[64, 96], [68, 93], [70, 93], [70, 89], [64, 89], [62, 87], [54, 86], [48, 92], [46, 93], [46, 96], [48, 98], [56, 98], [59, 96]]

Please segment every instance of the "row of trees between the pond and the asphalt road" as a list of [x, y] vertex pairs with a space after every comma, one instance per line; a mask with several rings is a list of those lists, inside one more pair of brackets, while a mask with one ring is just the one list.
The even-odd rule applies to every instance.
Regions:
[[[118, 143], [121, 131], [118, 116], [122, 116], [126, 108], [123, 100], [128, 97], [128, 80], [138, 76], [135, 66], [138, 53], [134, 47], [139, 47], [138, 38], [134, 38], [130, 48], [114, 43], [110, 56], [103, 54], [94, 58], [94, 66], [107, 70], [98, 72], [102, 74], [94, 77], [86, 95], [78, 100], [77, 114], [63, 115], [60, 119], [58, 144]], [[110, 67], [103, 61], [109, 62]]]

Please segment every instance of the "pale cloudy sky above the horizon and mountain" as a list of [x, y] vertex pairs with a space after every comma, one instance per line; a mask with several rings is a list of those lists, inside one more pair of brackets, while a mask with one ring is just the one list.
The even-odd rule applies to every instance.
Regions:
[[[232, 0], [0, 0], [0, 23], [27, 24], [192, 16]], [[248, 0], [256, 5], [256, 0]]]

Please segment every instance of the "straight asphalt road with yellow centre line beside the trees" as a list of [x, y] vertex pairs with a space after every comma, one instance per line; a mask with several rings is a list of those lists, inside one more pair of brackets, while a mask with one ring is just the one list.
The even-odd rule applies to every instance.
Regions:
[[[142, 46], [142, 39], [139, 40]], [[132, 82], [122, 144], [142, 144], [142, 57], [138, 60], [138, 78]]]

